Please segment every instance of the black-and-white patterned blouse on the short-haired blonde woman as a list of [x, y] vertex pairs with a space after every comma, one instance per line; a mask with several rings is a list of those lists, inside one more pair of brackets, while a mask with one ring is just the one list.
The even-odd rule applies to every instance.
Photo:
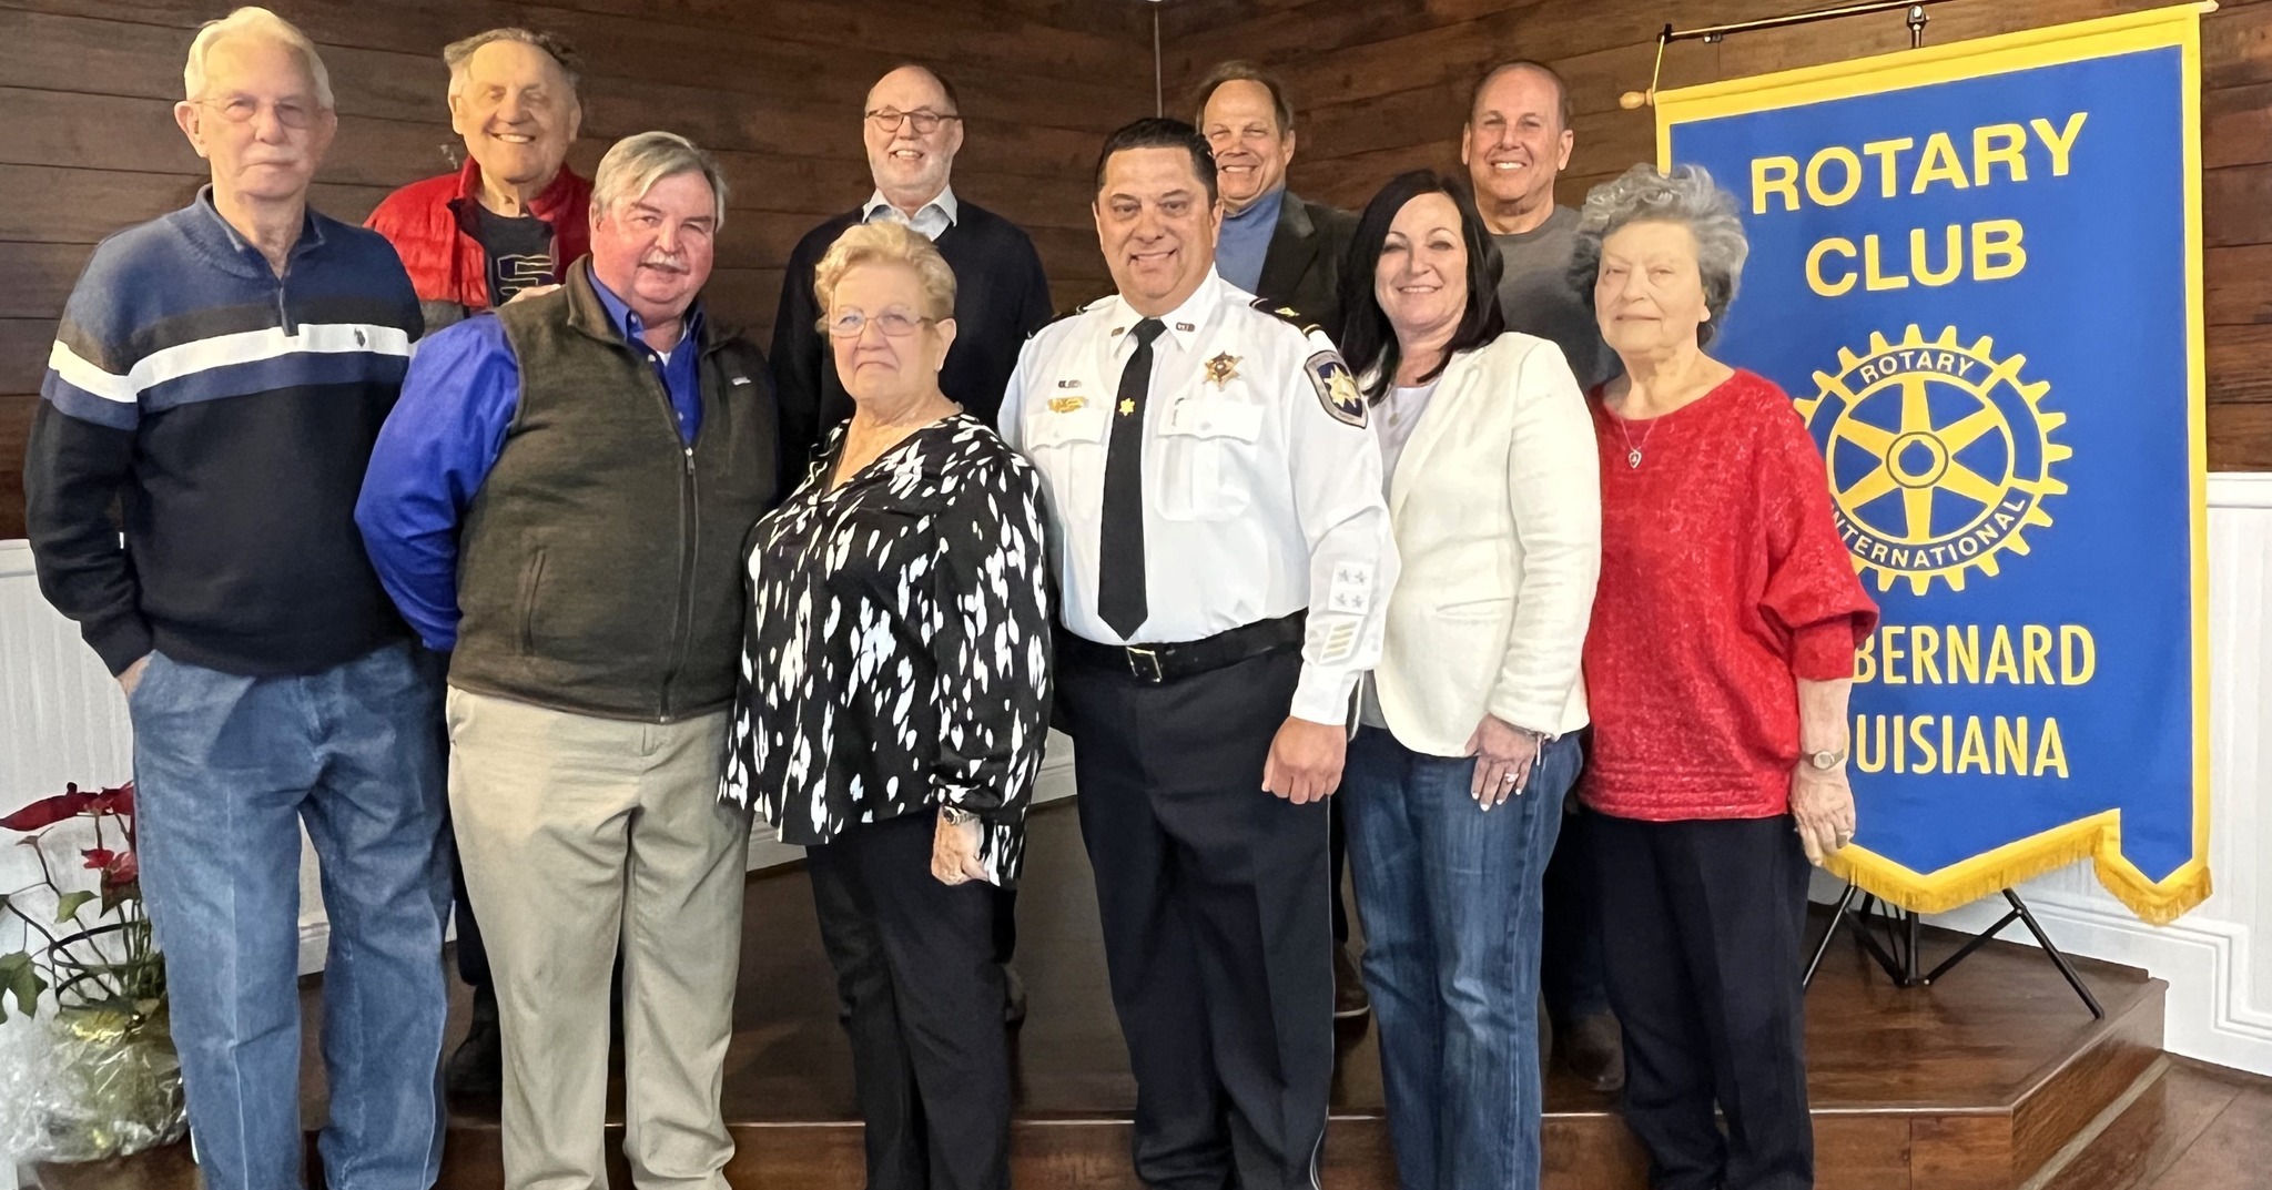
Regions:
[[797, 845], [963, 806], [986, 879], [1011, 883], [1050, 709], [1041, 479], [957, 413], [829, 491], [843, 436], [750, 529], [720, 795]]

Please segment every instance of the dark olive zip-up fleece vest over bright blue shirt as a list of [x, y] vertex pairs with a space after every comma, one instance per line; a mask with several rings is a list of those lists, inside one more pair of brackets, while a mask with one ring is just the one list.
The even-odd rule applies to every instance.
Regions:
[[520, 407], [459, 538], [450, 684], [673, 722], [734, 702], [743, 538], [782, 493], [766, 359], [704, 318], [688, 447], [661, 377], [609, 325], [591, 259], [498, 311]]

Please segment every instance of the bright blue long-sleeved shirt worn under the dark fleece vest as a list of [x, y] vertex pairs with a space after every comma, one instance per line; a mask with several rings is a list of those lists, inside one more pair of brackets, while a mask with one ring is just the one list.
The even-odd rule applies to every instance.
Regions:
[[[666, 359], [641, 338], [645, 325], [623, 298], [593, 279], [593, 291], [632, 350], [654, 366], [679, 438], [702, 429], [702, 311]], [[468, 318], [418, 345], [402, 397], [370, 450], [354, 525], [386, 595], [429, 650], [457, 645], [457, 531], [520, 407], [520, 363], [495, 313]]]

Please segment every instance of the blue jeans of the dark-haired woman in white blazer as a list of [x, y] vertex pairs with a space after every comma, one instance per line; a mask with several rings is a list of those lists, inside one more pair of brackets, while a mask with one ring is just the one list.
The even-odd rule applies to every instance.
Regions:
[[1577, 763], [1577, 740], [1545, 745], [1522, 793], [1484, 811], [1472, 759], [1377, 727], [1350, 740], [1340, 797], [1404, 1190], [1538, 1185], [1540, 881]]

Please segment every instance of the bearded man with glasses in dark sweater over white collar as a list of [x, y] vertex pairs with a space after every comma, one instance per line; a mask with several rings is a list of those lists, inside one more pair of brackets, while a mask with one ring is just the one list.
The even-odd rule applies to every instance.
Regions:
[[[852, 397], [836, 377], [836, 357], [820, 334], [813, 266], [845, 227], [897, 220], [922, 232], [954, 268], [954, 347], [938, 370], [938, 386], [972, 418], [993, 425], [1002, 391], [1018, 368], [1025, 336], [1050, 320], [1050, 277], [1034, 241], [1011, 220], [963, 202], [950, 175], [963, 148], [963, 104], [954, 86], [925, 66], [900, 66], [868, 89], [861, 136], [875, 193], [797, 241], [782, 277], [772, 318], [772, 388], [782, 402], [782, 459], [788, 486], [836, 422], [852, 416]], [[1025, 1020], [1025, 983], [1009, 967], [1018, 949], [1018, 895], [1004, 890], [995, 908], [995, 961], [1009, 983], [1002, 1015]]]

